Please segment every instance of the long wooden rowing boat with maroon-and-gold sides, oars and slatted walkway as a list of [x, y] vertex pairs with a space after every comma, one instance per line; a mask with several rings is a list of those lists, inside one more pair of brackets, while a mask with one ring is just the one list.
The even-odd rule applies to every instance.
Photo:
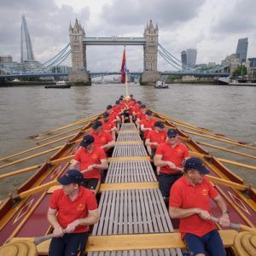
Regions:
[[[223, 196], [230, 212], [231, 222], [238, 224], [235, 226], [236, 230], [232, 227], [221, 229], [218, 226], [227, 255], [256, 255], [255, 233], [241, 232], [255, 230], [256, 190], [229, 167], [239, 166], [249, 169], [248, 172], [255, 172], [256, 166], [247, 163], [247, 159], [251, 162], [256, 160], [256, 148], [154, 110], [153, 118], [164, 122], [166, 128], [177, 127], [178, 137], [189, 148], [189, 154], [201, 158], [210, 170], [208, 178]], [[0, 203], [0, 246], [3, 246], [0, 247], [0, 254], [1, 248], [2, 252], [7, 246], [14, 249], [23, 241], [27, 251], [34, 250], [34, 254], [29, 255], [48, 255], [49, 240], [38, 244], [36, 248], [33, 241], [35, 237], [46, 236], [52, 232], [46, 214], [49, 197], [58, 185], [56, 178], [67, 172], [69, 162], [78, 150], [79, 143], [84, 135], [88, 134], [91, 125], [99, 119], [102, 119], [102, 113], [33, 136], [32, 138], [40, 137], [40, 143], [47, 141], [35, 147], [36, 149], [50, 147], [40, 154], [20, 157], [21, 154], [31, 154], [35, 149], [31, 148], [0, 159], [2, 163], [0, 168], [6, 170], [0, 175], [0, 179], [34, 172], [26, 183], [15, 189], [15, 194], [9, 195]], [[109, 253], [136, 256], [185, 255], [183, 253], [186, 245], [180, 238], [177, 223], [168, 214], [140, 131], [134, 123], [126, 121], [121, 125], [113, 154], [108, 158], [107, 177], [98, 190], [100, 221], [92, 228], [85, 251], [89, 256], [109, 255]], [[71, 134], [70, 132], [73, 131], [76, 133]], [[203, 137], [202, 141], [200, 137]], [[206, 143], [206, 140], [218, 142], [218, 145]], [[52, 145], [61, 141], [63, 145], [52, 148]], [[220, 147], [219, 143], [232, 145], [234, 149]], [[205, 147], [218, 149], [219, 152], [238, 154], [244, 163], [218, 158]], [[240, 148], [243, 152], [239, 150]], [[252, 153], [244, 153], [245, 150]], [[43, 163], [38, 162], [36, 166], [22, 166], [21, 169], [13, 171], [13, 166], [20, 162], [24, 163], [32, 157], [54, 151], [55, 154]], [[227, 164], [229, 166], [226, 166]], [[8, 171], [9, 166], [12, 168], [11, 171]], [[213, 203], [212, 215], [219, 216], [218, 207], [213, 206]], [[245, 251], [247, 254], [243, 253]]]

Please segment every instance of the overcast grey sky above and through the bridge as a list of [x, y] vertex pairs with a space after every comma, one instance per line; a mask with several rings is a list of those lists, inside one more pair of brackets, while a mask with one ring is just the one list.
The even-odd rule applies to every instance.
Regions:
[[[44, 63], [68, 43], [77, 18], [88, 37], [143, 37], [149, 20], [159, 26], [159, 42], [180, 59], [197, 49], [197, 64], [224, 60], [248, 38], [247, 57], [256, 57], [255, 0], [0, 0], [0, 55], [20, 61], [21, 15], [37, 61]], [[119, 71], [123, 46], [88, 46], [87, 69]], [[143, 70], [143, 46], [126, 47], [127, 67]], [[71, 57], [63, 62], [71, 66]], [[158, 70], [175, 70], [160, 55]]]

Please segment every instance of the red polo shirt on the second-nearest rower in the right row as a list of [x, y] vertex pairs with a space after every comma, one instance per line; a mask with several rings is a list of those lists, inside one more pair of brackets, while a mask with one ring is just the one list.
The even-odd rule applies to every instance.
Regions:
[[[155, 154], [162, 155], [162, 160], [171, 161], [175, 166], [183, 168], [183, 159], [189, 157], [189, 149], [181, 144], [177, 143], [174, 148], [172, 148], [169, 142], [162, 143], [156, 149]], [[177, 170], [172, 170], [169, 166], [161, 166], [160, 172], [171, 174], [180, 173]]]

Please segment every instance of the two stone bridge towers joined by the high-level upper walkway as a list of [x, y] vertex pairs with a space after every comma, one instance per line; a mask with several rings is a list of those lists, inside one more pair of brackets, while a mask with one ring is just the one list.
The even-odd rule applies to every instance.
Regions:
[[142, 45], [143, 46], [143, 73], [142, 84], [152, 84], [160, 80], [157, 69], [158, 54], [158, 26], [152, 20], [144, 29], [143, 38], [86, 38], [84, 28], [76, 20], [74, 26], [69, 26], [69, 39], [73, 72], [69, 73], [69, 82], [84, 82], [90, 84], [90, 74], [87, 71], [86, 47], [88, 45]]

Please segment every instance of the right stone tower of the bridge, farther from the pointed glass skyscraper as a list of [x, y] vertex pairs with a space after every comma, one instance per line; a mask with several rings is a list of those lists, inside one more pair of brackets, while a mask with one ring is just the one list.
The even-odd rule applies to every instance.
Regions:
[[141, 84], [152, 84], [160, 80], [157, 71], [158, 26], [154, 27], [152, 20], [145, 27], [144, 38], [144, 70]]

